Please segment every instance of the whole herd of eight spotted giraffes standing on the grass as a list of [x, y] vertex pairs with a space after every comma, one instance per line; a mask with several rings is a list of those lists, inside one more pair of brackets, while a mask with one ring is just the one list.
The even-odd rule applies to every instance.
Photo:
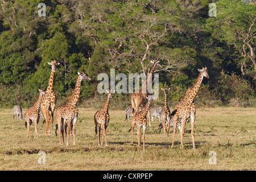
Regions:
[[[133, 93], [131, 95], [131, 106], [132, 106], [132, 114], [133, 114], [133, 120], [131, 122], [131, 137], [132, 142], [134, 143], [133, 139], [133, 130], [134, 126], [137, 125], [137, 137], [138, 137], [138, 146], [141, 146], [141, 127], [143, 128], [143, 150], [144, 150], [144, 142], [145, 142], [145, 133], [147, 128], [147, 117], [148, 114], [148, 122], [149, 126], [151, 126], [150, 123], [150, 104], [152, 100], [148, 97], [150, 94], [147, 92], [147, 86], [149, 84], [149, 81], [152, 79], [152, 74], [155, 71], [155, 68], [157, 64], [159, 63], [158, 60], [153, 59], [151, 61], [152, 67], [150, 69], [150, 72], [148, 73], [146, 77], [146, 81], [143, 82], [141, 88], [139, 89], [139, 93]], [[30, 125], [31, 123], [34, 123], [35, 125], [35, 138], [38, 138], [38, 122], [40, 118], [39, 111], [42, 110], [43, 116], [46, 119], [46, 130], [45, 134], [48, 133], [48, 135], [52, 135], [52, 124], [53, 124], [53, 114], [55, 112], [55, 106], [56, 106], [56, 95], [55, 91], [53, 89], [53, 80], [54, 80], [54, 73], [56, 72], [56, 66], [60, 63], [57, 63], [56, 59], [51, 60], [51, 63], [48, 62], [49, 65], [51, 65], [51, 75], [49, 77], [49, 82], [47, 89], [39, 89], [39, 97], [38, 100], [35, 102], [35, 104], [27, 109], [26, 114], [24, 114], [26, 119], [26, 126], [27, 126], [27, 137], [30, 137]], [[177, 122], [181, 121], [181, 129], [180, 129], [180, 148], [183, 149], [183, 137], [184, 137], [184, 128], [185, 128], [185, 121], [188, 121], [188, 118], [191, 118], [191, 136], [192, 136], [192, 143], [193, 143], [193, 150], [195, 151], [195, 139], [194, 139], [194, 125], [195, 125], [195, 118], [196, 118], [196, 105], [194, 103], [194, 98], [199, 91], [201, 82], [203, 81], [204, 77], [209, 78], [207, 67], [203, 67], [203, 69], [198, 69], [199, 76], [197, 77], [197, 80], [195, 84], [189, 88], [184, 96], [184, 98], [175, 106], [174, 110], [171, 112], [168, 103], [167, 103], [167, 94], [168, 91], [171, 88], [161, 88], [164, 92], [164, 106], [163, 109], [160, 111], [159, 117], [160, 121], [163, 125], [164, 130], [164, 137], [166, 137], [166, 130], [167, 130], [167, 136], [169, 135], [170, 130], [170, 121], [173, 119], [173, 126], [174, 126], [174, 132], [173, 132], [173, 138], [172, 138], [172, 146], [174, 146], [174, 140], [176, 135], [176, 127]], [[79, 109], [77, 108], [77, 101], [79, 100], [80, 96], [80, 86], [82, 80], [89, 80], [91, 81], [92, 78], [90, 78], [88, 75], [86, 75], [85, 72], [79, 73], [77, 72], [77, 78], [76, 78], [76, 85], [75, 89], [73, 90], [71, 96], [67, 98], [67, 101], [65, 101], [63, 104], [60, 104], [59, 107], [56, 109], [56, 130], [59, 129], [59, 143], [64, 144], [64, 140], [67, 140], [67, 146], [69, 144], [69, 138], [71, 137], [71, 134], [73, 134], [73, 144], [75, 145], [75, 134], [76, 134], [76, 122], [78, 118]], [[143, 86], [146, 85], [146, 90], [142, 90]], [[105, 145], [108, 146], [106, 141], [106, 129], [109, 125], [109, 103], [110, 98], [113, 98], [113, 93], [115, 93], [115, 90], [106, 90], [106, 93], [108, 93], [108, 97], [106, 102], [104, 103], [101, 110], [98, 110], [96, 114], [94, 115], [94, 123], [95, 123], [95, 131], [98, 137], [98, 145], [102, 145], [105, 138]], [[141, 110], [138, 111], [139, 107], [143, 106]], [[21, 113], [22, 114], [22, 113]], [[66, 136], [64, 137], [64, 127], [67, 127]], [[103, 137], [102, 142], [100, 144], [100, 131], [103, 130]], [[57, 134], [57, 133], [56, 133]]]

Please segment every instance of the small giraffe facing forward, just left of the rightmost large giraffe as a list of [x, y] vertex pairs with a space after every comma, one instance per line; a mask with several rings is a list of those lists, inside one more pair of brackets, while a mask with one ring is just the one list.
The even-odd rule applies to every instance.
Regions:
[[163, 109], [160, 111], [160, 120], [163, 124], [163, 129], [164, 129], [164, 137], [166, 137], [166, 129], [167, 129], [167, 136], [169, 136], [169, 129], [170, 129], [170, 124], [168, 121], [170, 121], [171, 118], [171, 112], [170, 109], [168, 107], [168, 103], [167, 103], [167, 93], [171, 88], [161, 88], [161, 90], [163, 90], [164, 92], [164, 107]]

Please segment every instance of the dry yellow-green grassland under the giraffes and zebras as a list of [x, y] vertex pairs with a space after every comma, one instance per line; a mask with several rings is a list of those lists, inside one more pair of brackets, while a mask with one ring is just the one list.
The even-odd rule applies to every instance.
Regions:
[[[26, 109], [23, 109], [26, 111]], [[39, 122], [39, 137], [26, 137], [24, 120], [13, 119], [12, 109], [0, 109], [1, 170], [255, 170], [255, 108], [218, 107], [197, 109], [195, 122], [196, 151], [192, 149], [190, 123], [180, 150], [177, 133], [175, 147], [170, 148], [172, 133], [159, 134], [158, 119], [147, 126], [146, 150], [131, 145], [130, 123], [125, 111], [109, 110], [108, 147], [97, 146], [93, 115], [96, 109], [80, 108], [76, 146], [59, 144], [59, 138], [44, 135], [45, 124]], [[56, 118], [53, 123], [55, 129]], [[102, 136], [101, 136], [102, 137]], [[39, 151], [46, 152], [46, 164], [39, 165]], [[210, 165], [209, 152], [217, 154], [217, 164]]]

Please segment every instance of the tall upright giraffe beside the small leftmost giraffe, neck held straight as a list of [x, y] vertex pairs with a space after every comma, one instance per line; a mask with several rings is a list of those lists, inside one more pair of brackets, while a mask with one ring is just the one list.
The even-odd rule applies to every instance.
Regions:
[[55, 105], [56, 105], [56, 96], [53, 89], [53, 79], [54, 79], [54, 73], [56, 72], [56, 66], [59, 65], [60, 63], [57, 63], [56, 59], [54, 61], [52, 59], [51, 63], [49, 62], [47, 63], [51, 65], [51, 76], [49, 77], [49, 82], [46, 89], [46, 95], [43, 96], [40, 107], [41, 107], [43, 116], [46, 119], [46, 133], [48, 129], [48, 135], [52, 135], [53, 114], [54, 114]]

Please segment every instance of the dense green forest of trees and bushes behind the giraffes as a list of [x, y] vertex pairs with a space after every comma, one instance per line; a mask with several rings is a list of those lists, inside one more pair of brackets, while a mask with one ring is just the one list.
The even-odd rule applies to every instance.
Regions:
[[[210, 3], [216, 16], [209, 16]], [[39, 16], [39, 3], [46, 16]], [[207, 66], [197, 106], [256, 106], [256, 3], [209, 0], [1, 1], [0, 107], [30, 107], [47, 88], [51, 59], [60, 63], [54, 89], [57, 105], [82, 81], [79, 105], [101, 107], [100, 73], [147, 73], [160, 63], [159, 88], [171, 87], [175, 106]], [[118, 82], [118, 81], [116, 81]], [[159, 91], [154, 105], [163, 105]], [[124, 109], [130, 94], [114, 94], [110, 107]]]

